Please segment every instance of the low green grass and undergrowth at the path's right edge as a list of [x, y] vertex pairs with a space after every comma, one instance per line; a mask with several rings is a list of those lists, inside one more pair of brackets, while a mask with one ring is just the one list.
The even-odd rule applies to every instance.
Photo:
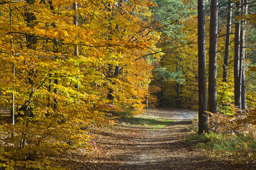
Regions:
[[192, 133], [185, 139], [189, 146], [207, 151], [212, 156], [222, 156], [222, 159], [229, 159], [235, 163], [256, 162], [256, 139], [246, 133], [227, 134], [210, 131], [198, 135], [196, 122], [189, 129]]

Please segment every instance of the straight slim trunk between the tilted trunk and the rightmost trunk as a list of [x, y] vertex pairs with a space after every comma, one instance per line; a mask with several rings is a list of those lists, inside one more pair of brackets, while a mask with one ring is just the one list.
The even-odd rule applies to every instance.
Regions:
[[[236, 2], [236, 16], [240, 15], [240, 1]], [[241, 74], [240, 74], [240, 22], [236, 19], [234, 38], [234, 105], [241, 109]]]

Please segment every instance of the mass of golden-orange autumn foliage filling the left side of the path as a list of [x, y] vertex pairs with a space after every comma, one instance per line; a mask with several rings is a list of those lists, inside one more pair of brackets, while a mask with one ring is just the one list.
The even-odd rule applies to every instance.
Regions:
[[[146, 56], [159, 51], [155, 46], [159, 33], [148, 11], [153, 3], [0, 4], [1, 103], [19, 108], [17, 123], [0, 128], [10, 143], [1, 149], [5, 164], [13, 158], [35, 160], [42, 153], [55, 154], [56, 149], [59, 153], [75, 146], [89, 149], [90, 125], [112, 124], [110, 111], [131, 114], [143, 109], [152, 77]], [[112, 77], [106, 74], [110, 65], [118, 71]], [[10, 100], [13, 94], [15, 100]]]

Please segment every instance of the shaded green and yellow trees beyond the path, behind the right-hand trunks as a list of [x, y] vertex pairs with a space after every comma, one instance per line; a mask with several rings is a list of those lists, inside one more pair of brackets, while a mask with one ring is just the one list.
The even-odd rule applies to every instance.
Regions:
[[[160, 3], [163, 3], [162, 1]], [[151, 84], [158, 84], [161, 90], [158, 92], [158, 99], [160, 105], [172, 105], [177, 108], [189, 108], [198, 109], [198, 96], [197, 96], [197, 14], [196, 11], [191, 11], [189, 13], [187, 8], [188, 5], [193, 3], [188, 3], [187, 7], [183, 4], [185, 10], [182, 12], [181, 7], [177, 7], [175, 3], [172, 5], [163, 5], [168, 8], [167, 10], [175, 11], [172, 15], [173, 20], [179, 24], [174, 24], [168, 31], [162, 33], [162, 41], [158, 44], [164, 52], [164, 56], [159, 61], [159, 67], [166, 68], [166, 71], [171, 71], [171, 73], [181, 73], [175, 78], [166, 79], [166, 76], [156, 76]], [[195, 5], [195, 3], [194, 3]], [[234, 104], [234, 28], [235, 20], [237, 18], [236, 8], [230, 8], [230, 12], [233, 14], [230, 18], [230, 23], [227, 23], [228, 2], [220, 2], [218, 12], [218, 44], [217, 44], [217, 98], [218, 107], [220, 113], [225, 113], [226, 104]], [[247, 11], [249, 14], [253, 14], [254, 3], [249, 5]], [[196, 10], [196, 6], [194, 6]], [[251, 11], [250, 11], [251, 9]], [[167, 14], [166, 14], [167, 15]], [[244, 14], [241, 14], [244, 15]], [[207, 78], [209, 69], [209, 29], [210, 29], [210, 2], [205, 2], [205, 48], [206, 48], [206, 68], [207, 68]], [[226, 27], [230, 24], [230, 41], [226, 46]], [[176, 28], [174, 28], [176, 27]], [[179, 27], [179, 28], [177, 28]], [[245, 49], [245, 58], [243, 59], [244, 65], [243, 70], [245, 70], [245, 82], [246, 82], [246, 101], [249, 107], [253, 107], [255, 103], [255, 84], [253, 68], [255, 66], [255, 22], [252, 20], [243, 23], [243, 30], [246, 32], [246, 36], [243, 44], [243, 49]], [[224, 63], [225, 58], [225, 48], [228, 48], [228, 71], [225, 70], [226, 63]], [[224, 82], [224, 73], [228, 73], [227, 82]], [[228, 109], [229, 110], [229, 109]], [[230, 111], [230, 110], [229, 110]]]

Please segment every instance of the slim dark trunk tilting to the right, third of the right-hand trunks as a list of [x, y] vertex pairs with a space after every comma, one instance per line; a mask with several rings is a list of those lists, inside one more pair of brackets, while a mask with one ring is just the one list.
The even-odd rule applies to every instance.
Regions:
[[226, 44], [224, 54], [224, 65], [223, 65], [223, 82], [228, 82], [228, 71], [229, 71], [229, 47], [230, 47], [230, 33], [231, 33], [231, 0], [228, 1], [228, 15], [226, 18]]

